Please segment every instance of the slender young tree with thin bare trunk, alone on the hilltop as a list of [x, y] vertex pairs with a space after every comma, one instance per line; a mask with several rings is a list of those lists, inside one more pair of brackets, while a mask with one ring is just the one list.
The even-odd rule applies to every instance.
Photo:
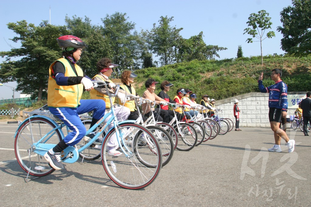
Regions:
[[[273, 31], [269, 31], [266, 36], [265, 32], [266, 29], [271, 29], [272, 22], [271, 17], [268, 17], [269, 13], [267, 13], [265, 10], [258, 11], [258, 14], [252, 13], [248, 17], [248, 21], [246, 22], [248, 26], [251, 26], [244, 29], [244, 33], [250, 34], [253, 36], [253, 38], [259, 39], [258, 41], [254, 42], [260, 42], [260, 51], [261, 51], [261, 65], [263, 65], [262, 60], [262, 41], [266, 38], [272, 38], [275, 37], [275, 34]], [[247, 43], [253, 43], [253, 38], [248, 38], [246, 41]]]

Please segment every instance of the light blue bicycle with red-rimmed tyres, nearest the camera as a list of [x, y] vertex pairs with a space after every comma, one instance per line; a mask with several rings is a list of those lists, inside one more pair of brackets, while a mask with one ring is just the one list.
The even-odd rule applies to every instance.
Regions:
[[[110, 94], [107, 85], [102, 81], [94, 81], [95, 87], [99, 83], [105, 85], [113, 106], [111, 97], [116, 96], [119, 87], [114, 94]], [[101, 125], [110, 115], [110, 119]], [[107, 131], [110, 123], [113, 123], [114, 127]], [[98, 127], [100, 125], [102, 127]], [[15, 133], [14, 149], [18, 164], [28, 173], [26, 180], [29, 175], [41, 177], [54, 172], [44, 159], [44, 154], [64, 138], [63, 130], [68, 130], [65, 126], [43, 115], [31, 116], [19, 125]], [[83, 157], [86, 154], [84, 151], [96, 146], [93, 142], [103, 136], [106, 130], [100, 156], [105, 172], [114, 183], [127, 189], [140, 189], [156, 179], [162, 167], [162, 153], [150, 130], [131, 121], [118, 122], [114, 107], [87, 130], [86, 135], [95, 128], [95, 136], [83, 146], [68, 146], [61, 152], [62, 162], [74, 163], [79, 159], [79, 155]], [[107, 144], [115, 137], [119, 144], [118, 150], [122, 152], [118, 157], [108, 154]]]

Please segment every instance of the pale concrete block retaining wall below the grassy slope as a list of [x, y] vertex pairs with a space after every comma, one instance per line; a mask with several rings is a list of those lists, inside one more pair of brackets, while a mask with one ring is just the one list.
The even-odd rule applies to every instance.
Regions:
[[[288, 94], [306, 94], [306, 92], [288, 92]], [[213, 97], [210, 97], [213, 98]], [[269, 123], [269, 93], [246, 93], [232, 98], [216, 100], [215, 107], [221, 109], [221, 117], [230, 118], [234, 121], [234, 99], [239, 100], [240, 127], [270, 127]], [[294, 115], [296, 109], [289, 109], [287, 115]], [[288, 126], [289, 127], [289, 124]]]

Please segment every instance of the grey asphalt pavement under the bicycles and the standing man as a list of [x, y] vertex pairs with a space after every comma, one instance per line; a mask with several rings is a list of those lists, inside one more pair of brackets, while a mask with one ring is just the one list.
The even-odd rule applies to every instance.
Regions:
[[[293, 153], [268, 152], [270, 128], [241, 128], [191, 151], [176, 150], [150, 186], [118, 187], [100, 160], [25, 182], [14, 154], [17, 124], [0, 122], [1, 206], [311, 206], [311, 136], [287, 131]], [[311, 135], [311, 133], [310, 133]], [[33, 178], [33, 177], [30, 177]]]

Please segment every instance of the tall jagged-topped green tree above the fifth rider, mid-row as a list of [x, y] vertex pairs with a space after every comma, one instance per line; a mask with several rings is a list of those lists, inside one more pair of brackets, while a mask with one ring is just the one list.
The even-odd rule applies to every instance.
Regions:
[[162, 65], [168, 65], [176, 62], [176, 56], [178, 53], [178, 45], [181, 40], [179, 32], [183, 28], [176, 29], [176, 27], [170, 26], [170, 22], [173, 21], [173, 16], [168, 18], [167, 16], [160, 17], [159, 25], [153, 24], [151, 31], [148, 31], [147, 42], [151, 52], [160, 56], [160, 63]]

